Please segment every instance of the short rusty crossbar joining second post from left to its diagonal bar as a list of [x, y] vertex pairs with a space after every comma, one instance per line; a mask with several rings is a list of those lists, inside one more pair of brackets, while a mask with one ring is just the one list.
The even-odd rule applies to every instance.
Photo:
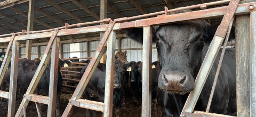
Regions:
[[24, 97], [28, 101], [38, 102], [38, 103], [42, 103], [42, 104], [49, 104], [49, 97], [47, 97], [47, 96], [36, 95], [36, 94], [30, 94], [30, 95], [24, 94]]

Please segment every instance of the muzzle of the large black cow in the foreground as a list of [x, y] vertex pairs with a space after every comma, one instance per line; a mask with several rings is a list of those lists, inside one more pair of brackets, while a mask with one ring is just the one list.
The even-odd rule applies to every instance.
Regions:
[[194, 89], [194, 78], [186, 71], [171, 71], [162, 74], [167, 93], [186, 94]]

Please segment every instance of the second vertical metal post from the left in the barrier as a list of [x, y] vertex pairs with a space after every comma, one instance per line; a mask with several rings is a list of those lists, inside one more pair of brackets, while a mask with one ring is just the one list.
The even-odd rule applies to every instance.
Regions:
[[49, 104], [48, 104], [47, 116], [55, 116], [56, 99], [57, 99], [57, 83], [58, 83], [59, 51], [60, 51], [59, 48], [60, 48], [60, 37], [56, 37], [52, 45], [53, 56], [51, 57]]

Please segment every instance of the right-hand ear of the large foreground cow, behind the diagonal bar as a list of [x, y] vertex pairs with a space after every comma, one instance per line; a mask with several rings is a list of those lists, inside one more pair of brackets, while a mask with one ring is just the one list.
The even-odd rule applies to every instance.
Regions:
[[[205, 33], [204, 35], [201, 36], [200, 40], [204, 40], [205, 43], [211, 42], [213, 40], [214, 34], [216, 33], [219, 25], [220, 23], [207, 25], [205, 28]], [[235, 26], [232, 26], [228, 41], [231, 41], [234, 39], [235, 39]]]

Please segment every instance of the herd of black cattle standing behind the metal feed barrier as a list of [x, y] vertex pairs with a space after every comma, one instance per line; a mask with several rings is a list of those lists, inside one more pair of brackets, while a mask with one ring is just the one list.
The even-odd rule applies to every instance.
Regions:
[[[184, 10], [174, 13], [189, 12]], [[151, 98], [152, 113], [155, 114], [156, 103], [162, 106], [162, 116], [180, 116], [183, 106], [187, 101], [190, 91], [194, 89], [195, 78], [207, 54], [209, 45], [214, 37], [219, 24], [211, 25], [205, 20], [190, 21], [183, 23], [174, 23], [168, 25], [153, 26], [153, 42], [156, 43], [159, 61], [152, 63], [151, 71]], [[143, 29], [127, 29], [127, 37], [142, 43]], [[235, 39], [234, 28], [231, 30], [229, 40]], [[205, 111], [209, 101], [213, 80], [218, 67], [220, 52], [216, 56], [212, 65], [210, 74], [202, 89], [201, 95], [197, 100], [194, 110]], [[78, 62], [77, 60], [72, 60]], [[31, 79], [40, 61], [22, 59], [19, 61], [18, 86], [26, 91]], [[89, 63], [90, 60], [81, 61]], [[59, 68], [64, 64], [70, 65], [68, 60], [59, 59]], [[47, 65], [44, 74], [39, 81], [36, 93], [48, 95], [50, 62]], [[81, 69], [82, 78], [87, 65]], [[236, 115], [236, 69], [235, 69], [235, 48], [227, 48], [222, 61], [221, 70], [213, 95], [210, 108], [211, 113], [226, 115]], [[69, 69], [70, 70], [70, 69]], [[74, 70], [75, 71], [75, 70]], [[62, 77], [58, 76], [57, 89], [57, 116], [61, 116], [59, 111], [59, 100], [61, 94]], [[90, 82], [88, 83], [84, 98], [92, 101], [104, 101], [105, 95], [105, 75], [106, 64], [98, 64]], [[6, 71], [4, 83], [10, 80], [10, 69]], [[138, 104], [135, 96], [136, 89], [141, 93], [142, 84], [142, 62], [126, 60], [126, 52], [118, 52], [115, 56], [115, 74], [114, 74], [114, 95], [113, 105], [118, 109], [125, 107], [123, 101], [125, 98], [127, 84], [131, 83], [131, 95], [135, 105]], [[2, 90], [5, 89], [2, 85]], [[18, 91], [18, 89], [17, 89]], [[21, 94], [22, 95], [22, 94]], [[23, 97], [23, 96], [21, 96]], [[138, 110], [139, 111], [139, 110]], [[86, 116], [93, 116], [92, 110], [86, 111]]]

